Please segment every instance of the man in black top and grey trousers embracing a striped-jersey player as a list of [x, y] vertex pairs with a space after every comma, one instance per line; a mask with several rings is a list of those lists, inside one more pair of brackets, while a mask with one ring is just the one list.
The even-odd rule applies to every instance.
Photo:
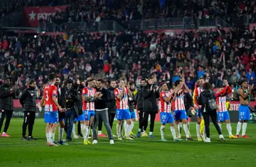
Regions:
[[100, 92], [99, 98], [95, 100], [95, 119], [92, 125], [93, 131], [93, 141], [92, 144], [97, 144], [97, 125], [99, 123], [100, 117], [104, 123], [105, 128], [107, 129], [107, 136], [110, 139], [110, 144], [114, 144], [113, 134], [110, 127], [108, 113], [107, 113], [107, 103], [110, 102], [108, 97], [109, 92], [107, 89], [103, 88], [104, 80], [99, 79], [96, 82], [97, 92]]

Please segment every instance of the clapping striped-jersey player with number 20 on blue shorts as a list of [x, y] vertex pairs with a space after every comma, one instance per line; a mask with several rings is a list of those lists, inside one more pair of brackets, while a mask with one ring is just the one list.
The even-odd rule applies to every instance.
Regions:
[[181, 139], [178, 139], [176, 136], [176, 131], [174, 127], [174, 116], [171, 112], [171, 100], [175, 101], [177, 89], [173, 90], [172, 92], [169, 92], [168, 91], [169, 89], [166, 83], [161, 83], [160, 88], [161, 88], [161, 93], [160, 93], [161, 141], [166, 141], [166, 139], [164, 139], [164, 129], [165, 129], [165, 124], [168, 124], [168, 123], [171, 126], [171, 134], [174, 137], [174, 141], [181, 141]]

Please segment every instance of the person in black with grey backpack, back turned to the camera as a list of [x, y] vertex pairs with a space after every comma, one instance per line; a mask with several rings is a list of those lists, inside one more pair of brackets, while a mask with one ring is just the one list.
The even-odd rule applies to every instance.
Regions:
[[206, 126], [206, 140], [205, 142], [210, 142], [210, 119], [212, 119], [212, 122], [218, 131], [219, 138], [221, 141], [225, 142], [225, 139], [223, 137], [223, 134], [220, 130], [220, 126], [218, 125], [218, 120], [217, 120], [217, 102], [216, 102], [216, 97], [215, 93], [213, 90], [211, 90], [211, 85], [209, 82], [205, 82], [203, 84], [203, 92], [199, 95], [198, 99], [196, 102], [199, 105], [202, 105], [202, 111], [203, 111], [203, 120], [205, 122]]

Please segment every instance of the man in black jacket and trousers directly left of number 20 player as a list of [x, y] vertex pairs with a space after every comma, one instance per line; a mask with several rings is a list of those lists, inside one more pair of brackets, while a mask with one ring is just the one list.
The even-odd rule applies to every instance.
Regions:
[[142, 132], [142, 136], [148, 136], [146, 134], [146, 128], [148, 125], [148, 119], [149, 119], [149, 114], [150, 114], [150, 129], [149, 129], [149, 137], [150, 138], [154, 138], [153, 136], [153, 131], [154, 131], [154, 121], [156, 119], [156, 114], [159, 110], [159, 107], [157, 105], [156, 99], [159, 98], [159, 87], [156, 87], [156, 85], [154, 84], [154, 77], [151, 76], [148, 78], [148, 85], [147, 88], [150, 90], [150, 97], [149, 97], [149, 101], [152, 104], [152, 108], [147, 111], [145, 113], [145, 122], [144, 122], [144, 131]]

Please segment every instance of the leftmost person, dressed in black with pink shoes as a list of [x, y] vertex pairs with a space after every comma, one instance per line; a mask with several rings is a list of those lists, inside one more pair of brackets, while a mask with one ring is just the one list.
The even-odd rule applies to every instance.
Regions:
[[1, 126], [4, 123], [6, 117], [6, 123], [4, 125], [4, 131], [2, 137], [9, 137], [6, 134], [9, 124], [11, 122], [11, 116], [14, 112], [14, 90], [11, 88], [11, 77], [6, 76], [4, 78], [4, 84], [0, 87], [0, 132]]

